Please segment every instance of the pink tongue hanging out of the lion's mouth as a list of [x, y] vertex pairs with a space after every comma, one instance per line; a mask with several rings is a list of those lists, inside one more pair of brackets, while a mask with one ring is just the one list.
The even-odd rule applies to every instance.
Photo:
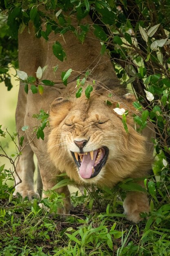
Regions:
[[79, 168], [79, 174], [82, 178], [89, 179], [91, 177], [92, 167], [94, 167], [97, 152], [98, 150], [94, 150], [93, 160], [91, 159], [89, 152], [87, 155], [83, 156], [82, 164]]

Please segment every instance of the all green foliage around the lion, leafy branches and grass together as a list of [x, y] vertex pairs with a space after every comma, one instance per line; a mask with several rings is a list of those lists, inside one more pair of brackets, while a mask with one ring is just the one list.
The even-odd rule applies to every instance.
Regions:
[[[42, 4], [46, 12], [41, 10]], [[64, 15], [68, 10], [77, 15], [78, 32], [69, 17]], [[44, 40], [48, 40], [52, 31], [61, 35], [71, 31], [84, 43], [88, 30], [93, 27], [97, 40], [101, 42], [101, 54], [107, 52], [110, 55], [121, 84], [124, 87], [131, 84], [137, 96], [133, 105], [137, 112], [141, 111], [141, 115], [134, 115], [136, 129], [141, 132], [148, 120], [155, 128], [157, 157], [154, 172], [159, 175], [159, 181], [151, 178], [145, 180], [151, 212], [148, 216], [143, 215], [144, 221], [137, 225], [126, 221], [122, 202], [117, 198], [118, 194], [124, 198], [127, 190], [140, 191], [141, 188], [135, 186], [132, 180], [118, 184], [113, 191], [93, 188], [92, 197], [87, 192], [82, 196], [73, 195], [73, 215], [63, 219], [55, 212], [57, 204], [62, 205], [64, 195], [51, 191], [49, 199], [43, 201], [50, 212], [46, 208], [40, 209], [38, 200], [28, 202], [13, 197], [14, 188], [7, 186], [7, 180], [12, 179], [17, 159], [22, 154], [21, 146], [23, 143], [26, 145], [26, 141], [22, 136], [20, 146], [16, 147], [17, 152], [10, 157], [1, 145], [1, 156], [7, 157], [13, 168], [6, 170], [4, 165], [0, 167], [0, 204], [3, 205], [0, 209], [0, 255], [170, 255], [170, 2], [7, 0], [1, 2], [0, 11], [0, 82], [4, 81], [8, 90], [12, 87], [9, 68], [11, 65], [18, 68], [18, 31], [22, 32], [29, 20], [35, 26], [36, 37]], [[52, 11], [55, 19], [51, 18]], [[81, 23], [88, 14], [93, 20], [91, 26]], [[42, 27], [42, 22], [45, 27]], [[60, 61], [66, 61], [65, 51], [59, 42], [53, 44], [53, 54]], [[32, 93], [41, 95], [46, 86], [55, 85], [55, 81], [41, 80], [45, 70], [46, 67], [38, 67], [36, 77], [22, 70], [17, 71], [16, 75], [25, 84], [26, 93], [28, 84], [31, 84]], [[57, 72], [57, 66], [53, 71]], [[67, 85], [71, 72], [71, 69], [64, 70], [60, 74], [64, 85]], [[88, 73], [83, 79], [77, 79], [77, 98], [83, 93]], [[92, 90], [93, 85], [85, 88], [87, 98]], [[109, 94], [108, 98], [106, 104], [111, 105], [112, 95]], [[128, 112], [120, 110], [124, 128], [128, 132]], [[35, 136], [44, 139], [43, 129], [48, 125], [48, 114], [41, 110], [34, 117], [38, 119], [38, 126], [34, 128]], [[23, 127], [23, 130], [28, 128]], [[5, 136], [1, 126], [0, 136]], [[17, 133], [11, 136], [14, 143], [18, 136]], [[57, 185], [67, 182], [62, 180]]]

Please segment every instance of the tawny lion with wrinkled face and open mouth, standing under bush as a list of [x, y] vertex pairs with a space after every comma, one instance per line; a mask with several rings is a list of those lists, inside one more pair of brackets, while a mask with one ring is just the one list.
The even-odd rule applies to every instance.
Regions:
[[[67, 16], [67, 14], [64, 14]], [[76, 24], [76, 18], [71, 15]], [[93, 24], [90, 17], [82, 20], [83, 24]], [[91, 26], [92, 27], [92, 26]], [[77, 33], [79, 25], [77, 24]], [[59, 61], [52, 51], [52, 45], [58, 41], [65, 53], [66, 61]], [[34, 191], [33, 174], [35, 164], [33, 155], [38, 159], [40, 176], [38, 189], [48, 191], [57, 183], [57, 175], [66, 173], [76, 185], [112, 188], [118, 182], [130, 177], [140, 178], [151, 169], [153, 145], [152, 129], [145, 128], [142, 134], [135, 130], [132, 115], [136, 110], [132, 107], [134, 97], [124, 96], [126, 90], [121, 88], [113, 65], [107, 54], [101, 55], [101, 43], [93, 34], [93, 28], [88, 32], [84, 43], [77, 40], [72, 32], [64, 36], [51, 33], [49, 41], [36, 38], [34, 27], [29, 23], [22, 34], [18, 35], [20, 70], [35, 76], [38, 66], [48, 65], [43, 79], [55, 81], [54, 86], [44, 85], [44, 93], [26, 94], [23, 83], [20, 83], [18, 104], [16, 108], [16, 127], [19, 135], [24, 134], [26, 146], [17, 165], [17, 174], [22, 180], [19, 183], [15, 175], [15, 195], [20, 193], [30, 200], [39, 194]], [[57, 74], [53, 68], [58, 65]], [[62, 83], [61, 72], [72, 68], [67, 87]], [[84, 91], [79, 98], [75, 97], [77, 77], [82, 79], [86, 71], [90, 71], [84, 88], [95, 81], [90, 99]], [[40, 81], [39, 81], [40, 82]], [[108, 94], [112, 105], [108, 106]], [[127, 116], [128, 132], [122, 123], [122, 116], [115, 108], [129, 111]], [[37, 139], [32, 132], [37, 126], [33, 114], [43, 109], [50, 112], [49, 127], [44, 129], [44, 140]], [[23, 133], [22, 126], [29, 126]], [[27, 140], [29, 143], [27, 143]], [[140, 183], [140, 182], [139, 182]], [[143, 182], [141, 182], [143, 184]], [[70, 192], [67, 186], [57, 190], [66, 195], [64, 208], [59, 213], [68, 214], [71, 209]], [[43, 193], [42, 195], [46, 195]], [[138, 222], [140, 213], [148, 212], [147, 195], [140, 192], [127, 192], [124, 200], [124, 211], [129, 220]]]

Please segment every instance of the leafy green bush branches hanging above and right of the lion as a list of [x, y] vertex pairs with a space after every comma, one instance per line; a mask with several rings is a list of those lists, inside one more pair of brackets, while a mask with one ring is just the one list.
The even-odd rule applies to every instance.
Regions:
[[[42, 4], [46, 11], [41, 8]], [[160, 1], [151, 3], [138, 0], [118, 2], [113, 0], [4, 1], [0, 6], [2, 13], [0, 36], [12, 38], [12, 44], [9, 42], [7, 50], [3, 40], [1, 43], [2, 60], [8, 58], [7, 62], [2, 61], [1, 81], [5, 80], [8, 88], [11, 88], [7, 81], [9, 81], [8, 64], [16, 59], [16, 44], [13, 42], [17, 40], [18, 31], [22, 33], [30, 20], [34, 24], [38, 38], [43, 37], [44, 40], [48, 40], [52, 31], [61, 35], [71, 31], [83, 43], [91, 26], [82, 24], [81, 20], [90, 15], [93, 20], [94, 34], [102, 43], [101, 54], [106, 51], [110, 54], [121, 83], [124, 86], [131, 83], [138, 103], [140, 102], [148, 110], [141, 108], [142, 116], [134, 116], [135, 123], [139, 125], [139, 130], [142, 130], [147, 125], [148, 119], [152, 121], [157, 134], [157, 141], [155, 141], [157, 153], [162, 149], [169, 163], [170, 40], [168, 39], [168, 24], [170, 4], [168, 1], [165, 1], [165, 4], [166, 8], [163, 8]], [[71, 24], [69, 17], [64, 15], [64, 11], [68, 10], [77, 15], [78, 32]], [[51, 18], [52, 11], [55, 14], [54, 19]], [[5, 19], [7, 23], [4, 22]], [[45, 22], [45, 27], [42, 26], [42, 22]], [[53, 54], [60, 61], [66, 60], [66, 54], [59, 42], [53, 44]], [[36, 76], [39, 80], [45, 68], [38, 68]], [[56, 71], [57, 67], [54, 67], [54, 72]], [[71, 69], [63, 71], [61, 74], [65, 85], [67, 85], [71, 71]], [[31, 84], [33, 93], [39, 91], [40, 94], [43, 94], [44, 85], [55, 84], [55, 81], [49, 80], [37, 82], [29, 74], [23, 76], [20, 72], [22, 71], [18, 72], [18, 76], [25, 82], [26, 92], [28, 83]], [[86, 88], [87, 98], [90, 97], [92, 90], [92, 87]], [[81, 94], [82, 86], [78, 88], [76, 97], [81, 97]], [[127, 131], [125, 116], [122, 121]]]

